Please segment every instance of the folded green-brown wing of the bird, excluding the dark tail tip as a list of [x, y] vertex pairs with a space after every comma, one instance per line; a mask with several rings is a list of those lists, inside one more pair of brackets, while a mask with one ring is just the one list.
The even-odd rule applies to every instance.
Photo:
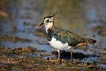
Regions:
[[63, 29], [57, 31], [54, 37], [62, 43], [68, 43], [70, 46], [76, 46], [79, 43], [89, 42], [88, 38], [81, 37], [75, 33]]

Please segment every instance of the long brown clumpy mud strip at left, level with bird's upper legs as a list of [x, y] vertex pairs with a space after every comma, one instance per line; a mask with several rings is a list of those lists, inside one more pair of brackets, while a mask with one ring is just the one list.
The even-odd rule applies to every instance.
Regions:
[[37, 50], [36, 48], [33, 48], [31, 46], [28, 47], [20, 47], [20, 48], [9, 48], [9, 47], [4, 47], [1, 48], [1, 52], [4, 54], [15, 54], [15, 55], [24, 55], [28, 53], [37, 53], [37, 52], [45, 52], [45, 50]]

